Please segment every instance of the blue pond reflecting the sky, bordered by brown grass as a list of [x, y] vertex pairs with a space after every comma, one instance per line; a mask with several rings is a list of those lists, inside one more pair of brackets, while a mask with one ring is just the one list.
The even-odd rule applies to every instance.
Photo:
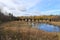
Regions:
[[47, 32], [60, 32], [60, 27], [44, 24], [44, 23], [32, 23], [32, 27], [38, 28], [39, 30], [44, 30]]

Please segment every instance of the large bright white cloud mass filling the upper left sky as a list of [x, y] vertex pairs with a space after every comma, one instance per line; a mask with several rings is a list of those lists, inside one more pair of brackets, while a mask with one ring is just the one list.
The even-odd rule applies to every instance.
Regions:
[[[0, 7], [7, 12], [12, 12], [14, 15], [26, 13], [23, 11], [35, 6], [40, 0], [0, 0]], [[16, 13], [16, 14], [15, 14]]]

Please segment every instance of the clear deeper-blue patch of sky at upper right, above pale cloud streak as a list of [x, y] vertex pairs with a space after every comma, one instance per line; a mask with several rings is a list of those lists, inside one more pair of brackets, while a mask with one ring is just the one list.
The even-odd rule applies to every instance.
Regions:
[[40, 11], [59, 10], [60, 0], [43, 0], [36, 5], [36, 8]]

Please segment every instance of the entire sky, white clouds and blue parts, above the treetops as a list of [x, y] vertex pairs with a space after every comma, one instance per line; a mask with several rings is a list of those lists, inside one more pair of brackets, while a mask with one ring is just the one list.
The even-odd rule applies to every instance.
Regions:
[[0, 9], [15, 16], [60, 15], [60, 0], [0, 0]]

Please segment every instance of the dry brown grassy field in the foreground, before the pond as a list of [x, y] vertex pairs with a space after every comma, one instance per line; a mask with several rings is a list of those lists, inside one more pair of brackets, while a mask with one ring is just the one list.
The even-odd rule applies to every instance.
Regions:
[[32, 28], [27, 22], [13, 21], [0, 26], [1, 40], [59, 40], [59, 37], [57, 33]]

